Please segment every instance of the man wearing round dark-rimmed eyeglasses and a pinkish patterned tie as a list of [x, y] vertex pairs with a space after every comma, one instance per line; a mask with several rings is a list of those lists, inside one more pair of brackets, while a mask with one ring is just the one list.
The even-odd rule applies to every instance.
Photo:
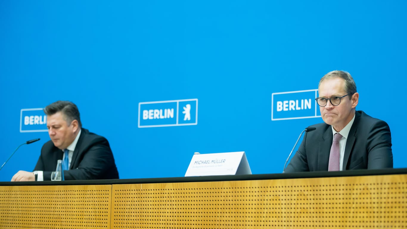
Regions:
[[310, 126], [285, 172], [393, 167], [392, 138], [385, 121], [356, 111], [359, 93], [345, 71], [324, 75], [318, 85], [324, 123]]

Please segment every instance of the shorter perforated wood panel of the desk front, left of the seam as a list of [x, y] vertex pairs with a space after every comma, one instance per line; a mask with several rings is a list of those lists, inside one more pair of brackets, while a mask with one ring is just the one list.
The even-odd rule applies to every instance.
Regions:
[[0, 187], [0, 228], [110, 228], [112, 185]]

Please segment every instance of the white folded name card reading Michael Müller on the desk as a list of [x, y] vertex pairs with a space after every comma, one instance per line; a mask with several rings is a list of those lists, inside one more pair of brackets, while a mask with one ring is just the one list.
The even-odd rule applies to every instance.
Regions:
[[245, 152], [195, 154], [185, 176], [252, 174]]

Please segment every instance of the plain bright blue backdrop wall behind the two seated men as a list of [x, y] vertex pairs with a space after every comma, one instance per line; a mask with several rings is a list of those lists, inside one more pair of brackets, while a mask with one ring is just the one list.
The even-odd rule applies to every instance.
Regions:
[[[22, 146], [0, 181], [33, 170], [49, 137], [26, 132], [44, 129], [41, 110], [26, 109], [56, 100], [76, 103], [83, 127], [109, 140], [120, 178], [184, 176], [194, 152], [245, 151], [254, 174], [280, 173], [298, 134], [322, 122], [305, 104], [331, 70], [352, 74], [357, 110], [387, 121], [394, 167], [407, 167], [406, 9], [401, 0], [1, 1], [0, 162], [41, 141]], [[143, 120], [144, 106], [174, 108], [179, 122]], [[188, 125], [153, 127], [174, 121]]]

